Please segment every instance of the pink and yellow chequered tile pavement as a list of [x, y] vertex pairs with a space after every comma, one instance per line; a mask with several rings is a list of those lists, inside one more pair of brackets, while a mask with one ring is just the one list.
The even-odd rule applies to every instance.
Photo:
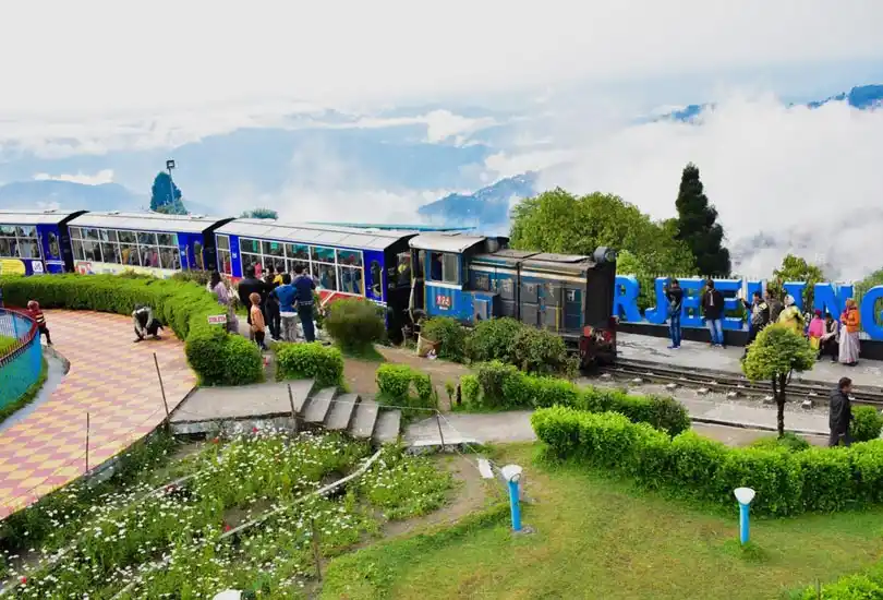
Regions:
[[0, 433], [0, 519], [86, 471], [87, 413], [90, 468], [162, 421], [154, 352], [169, 410], [196, 385], [170, 329], [133, 344], [132, 320], [118, 314], [46, 311], [46, 320], [71, 370], [48, 400]]

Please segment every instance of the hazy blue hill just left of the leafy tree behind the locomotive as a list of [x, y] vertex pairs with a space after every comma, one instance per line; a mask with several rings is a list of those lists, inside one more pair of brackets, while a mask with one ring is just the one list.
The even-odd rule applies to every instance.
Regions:
[[527, 172], [500, 179], [473, 194], [450, 194], [421, 206], [420, 216], [439, 224], [481, 226], [483, 229], [505, 226], [512, 201], [536, 193], [537, 173]]

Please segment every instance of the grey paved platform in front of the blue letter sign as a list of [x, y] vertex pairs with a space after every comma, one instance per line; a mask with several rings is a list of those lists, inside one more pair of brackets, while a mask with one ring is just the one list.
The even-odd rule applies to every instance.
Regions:
[[[616, 341], [625, 359], [742, 373], [739, 358], [745, 349], [741, 347], [711, 348], [701, 341], [685, 341], [679, 350], [669, 350], [667, 338], [636, 334], [618, 334]], [[846, 367], [825, 359], [817, 362], [812, 371], [795, 373], [795, 381], [821, 381], [833, 385], [844, 375], [851, 377], [856, 385], [883, 387], [883, 361], [862, 360], [857, 367]]]

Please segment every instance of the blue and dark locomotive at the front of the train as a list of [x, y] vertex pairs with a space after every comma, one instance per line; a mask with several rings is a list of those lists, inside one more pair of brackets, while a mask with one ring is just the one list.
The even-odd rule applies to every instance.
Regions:
[[508, 249], [507, 241], [458, 233], [413, 238], [414, 260], [426, 274], [426, 314], [467, 324], [511, 316], [579, 346], [584, 367], [612, 361], [616, 253], [600, 248], [593, 256], [549, 254]]

